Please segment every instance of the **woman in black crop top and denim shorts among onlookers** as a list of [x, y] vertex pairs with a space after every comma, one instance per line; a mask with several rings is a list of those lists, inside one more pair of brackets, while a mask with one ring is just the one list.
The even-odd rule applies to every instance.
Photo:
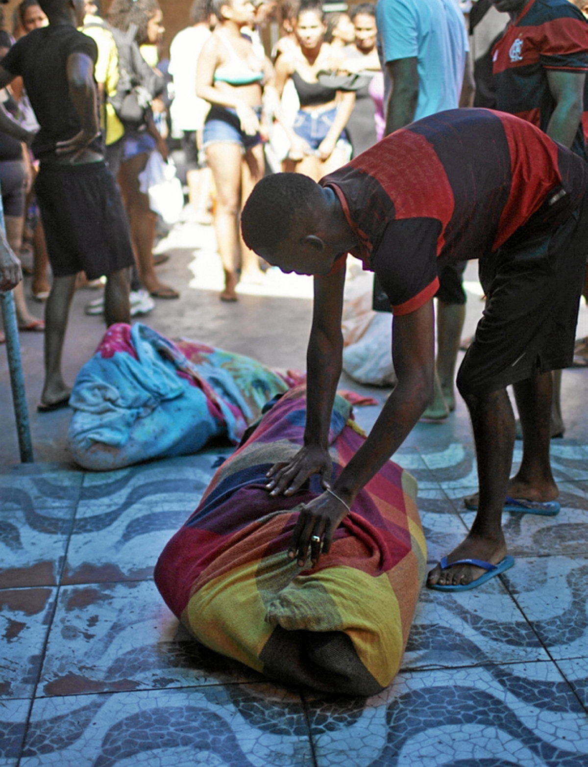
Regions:
[[339, 54], [324, 42], [322, 6], [303, 0], [295, 25], [297, 47], [276, 61], [276, 88], [281, 96], [291, 80], [300, 102], [294, 125], [284, 124], [290, 151], [284, 170], [318, 180], [349, 160], [350, 146], [342, 136], [355, 95], [319, 81], [321, 71], [337, 70]]

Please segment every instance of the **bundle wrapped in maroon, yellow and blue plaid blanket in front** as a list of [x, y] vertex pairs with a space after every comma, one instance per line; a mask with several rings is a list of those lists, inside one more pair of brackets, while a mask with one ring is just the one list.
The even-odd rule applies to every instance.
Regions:
[[[416, 480], [389, 461], [357, 495], [315, 568], [287, 558], [297, 507], [320, 480], [272, 497], [265, 472], [300, 448], [304, 387], [291, 389], [219, 467], [156, 565], [157, 588], [202, 644], [266, 676], [332, 693], [371, 695], [399, 669], [425, 571]], [[337, 396], [330, 423], [336, 476], [364, 437]]]

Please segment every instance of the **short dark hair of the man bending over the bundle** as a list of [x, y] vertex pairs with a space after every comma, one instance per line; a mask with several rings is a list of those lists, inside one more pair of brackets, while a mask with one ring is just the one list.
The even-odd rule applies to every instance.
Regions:
[[259, 181], [241, 212], [245, 244], [274, 251], [297, 222], [316, 209], [317, 183], [303, 173], [272, 173]]

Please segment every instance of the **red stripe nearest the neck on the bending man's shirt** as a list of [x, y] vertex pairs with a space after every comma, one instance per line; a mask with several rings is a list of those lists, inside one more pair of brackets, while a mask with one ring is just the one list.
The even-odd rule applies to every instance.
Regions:
[[[419, 133], [402, 128], [394, 136], [396, 141], [379, 143], [379, 152], [361, 154], [357, 166], [377, 179], [393, 202], [396, 220], [434, 217], [445, 232], [455, 201], [441, 160]], [[438, 255], [443, 245], [445, 237], [441, 235]]]

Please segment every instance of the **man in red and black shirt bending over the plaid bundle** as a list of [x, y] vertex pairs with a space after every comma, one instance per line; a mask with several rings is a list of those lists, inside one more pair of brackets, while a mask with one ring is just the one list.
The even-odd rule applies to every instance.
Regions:
[[[432, 297], [443, 265], [497, 254], [485, 314], [457, 385], [478, 458], [478, 513], [465, 540], [429, 573], [432, 588], [472, 588], [512, 565], [501, 528], [514, 445], [506, 392], [521, 390], [521, 420], [549, 420], [550, 370], [573, 358], [588, 226], [588, 166], [517, 117], [449, 110], [397, 130], [319, 184], [296, 174], [262, 179], [242, 214], [251, 249], [284, 272], [315, 275], [307, 351], [304, 447], [268, 472], [274, 495], [320, 473], [289, 555], [327, 551], [356, 493], [399, 448], [432, 398]], [[584, 230], [584, 231], [582, 231]], [[379, 278], [393, 309], [398, 384], [370, 436], [334, 480], [327, 430], [341, 372], [347, 253]], [[541, 393], [537, 397], [537, 392]], [[549, 439], [541, 492], [557, 496]], [[332, 484], [331, 484], [332, 482]]]

